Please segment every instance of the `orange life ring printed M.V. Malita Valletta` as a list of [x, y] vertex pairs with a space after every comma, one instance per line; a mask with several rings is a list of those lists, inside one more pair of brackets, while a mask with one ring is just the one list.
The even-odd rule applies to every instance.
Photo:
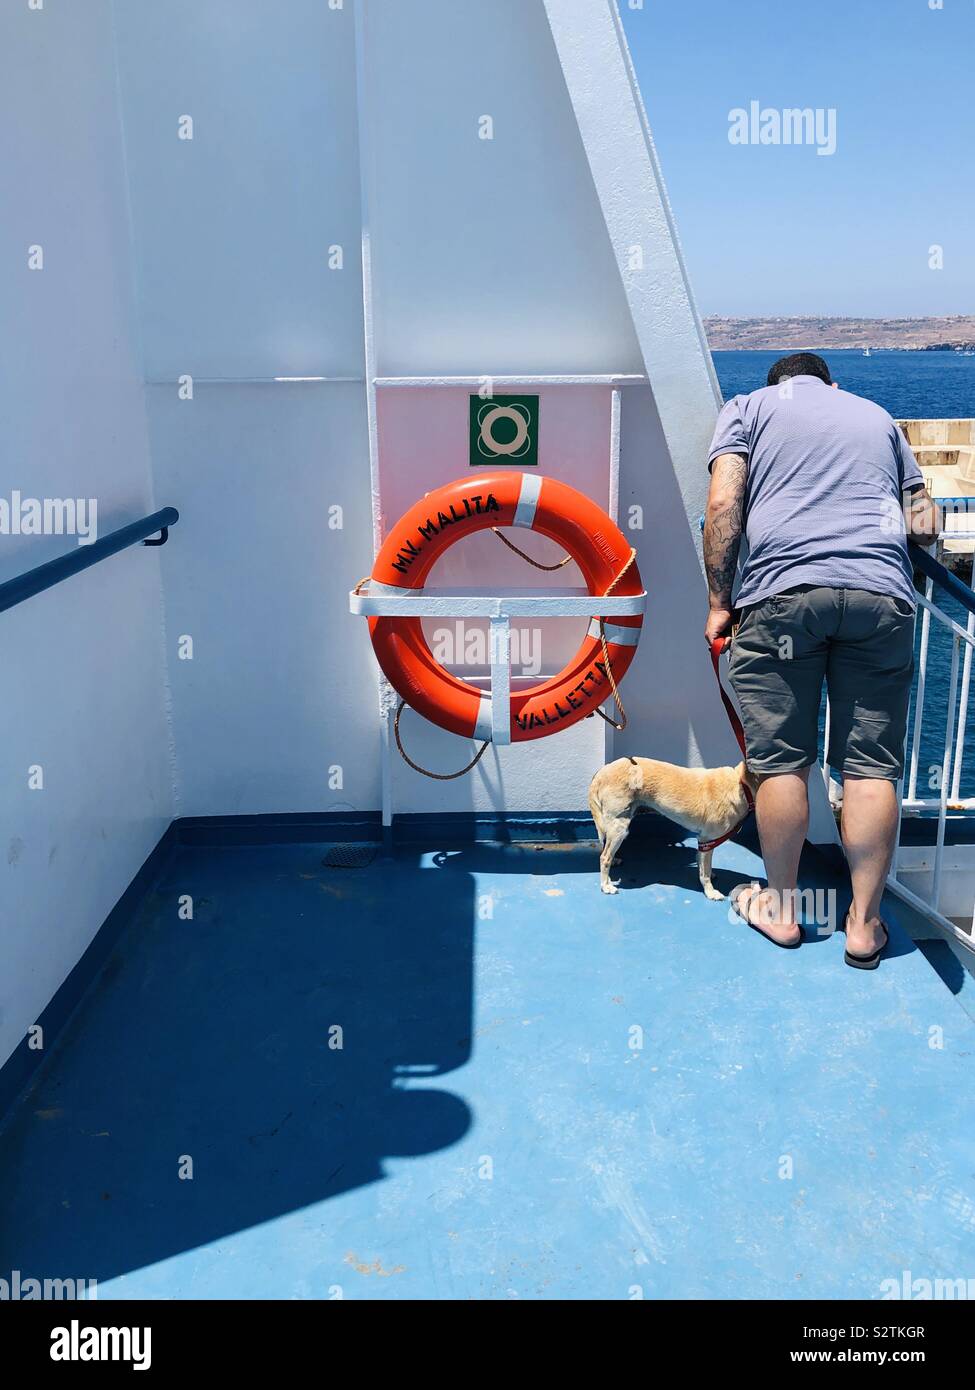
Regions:
[[[630, 557], [615, 521], [590, 498], [555, 478], [529, 473], [478, 473], [428, 492], [394, 525], [376, 557], [370, 594], [414, 594], [448, 546], [488, 527], [524, 527], [558, 541], [583, 571], [590, 594], [605, 594]], [[636, 562], [613, 595], [640, 595]], [[633, 660], [643, 613], [605, 624], [612, 676]], [[466, 738], [491, 738], [491, 698], [437, 662], [419, 617], [370, 617], [373, 648], [389, 684], [433, 724]], [[599, 620], [590, 623], [569, 664], [538, 685], [512, 692], [513, 744], [544, 738], [594, 713], [611, 695]]]

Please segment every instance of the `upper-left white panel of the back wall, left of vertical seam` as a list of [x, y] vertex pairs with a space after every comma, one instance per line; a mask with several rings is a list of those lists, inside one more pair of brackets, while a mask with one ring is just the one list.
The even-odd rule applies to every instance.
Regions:
[[360, 377], [352, 6], [114, 8], [149, 381]]

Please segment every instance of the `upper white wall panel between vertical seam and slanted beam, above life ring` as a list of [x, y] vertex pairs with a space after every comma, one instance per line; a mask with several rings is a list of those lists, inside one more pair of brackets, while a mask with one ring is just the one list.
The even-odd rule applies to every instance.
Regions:
[[544, 6], [364, 15], [380, 375], [641, 373]]

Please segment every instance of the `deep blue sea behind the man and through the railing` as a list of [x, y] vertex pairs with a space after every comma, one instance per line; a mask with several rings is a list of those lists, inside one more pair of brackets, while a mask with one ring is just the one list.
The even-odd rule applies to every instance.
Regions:
[[[765, 385], [768, 370], [784, 352], [715, 352], [712, 353], [718, 381], [725, 400]], [[957, 352], [892, 352], [862, 349], [826, 352], [833, 379], [844, 391], [875, 400], [897, 420], [947, 420], [975, 417], [975, 357]], [[961, 627], [968, 619], [967, 609], [944, 594], [935, 591], [935, 599]], [[915, 652], [921, 641], [921, 619]], [[964, 657], [964, 649], [960, 653]], [[928, 682], [918, 758], [918, 795], [937, 796], [944, 756], [944, 731], [949, 717], [947, 695], [951, 671], [951, 638], [949, 630], [932, 619], [928, 646]], [[961, 659], [960, 659], [961, 688]], [[968, 730], [961, 766], [960, 794], [975, 796], [975, 678], [968, 699]], [[915, 689], [911, 701], [911, 728], [914, 727]], [[957, 719], [957, 710], [956, 710]], [[819, 734], [822, 738], [823, 712]], [[950, 783], [949, 783], [950, 785]]]

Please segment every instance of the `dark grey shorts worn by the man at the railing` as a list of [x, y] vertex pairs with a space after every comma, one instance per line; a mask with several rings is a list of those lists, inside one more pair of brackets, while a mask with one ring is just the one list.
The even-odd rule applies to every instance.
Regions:
[[896, 781], [914, 674], [914, 605], [865, 589], [800, 584], [743, 609], [729, 676], [748, 767], [791, 773], [818, 759], [822, 682], [828, 760], [851, 777]]

